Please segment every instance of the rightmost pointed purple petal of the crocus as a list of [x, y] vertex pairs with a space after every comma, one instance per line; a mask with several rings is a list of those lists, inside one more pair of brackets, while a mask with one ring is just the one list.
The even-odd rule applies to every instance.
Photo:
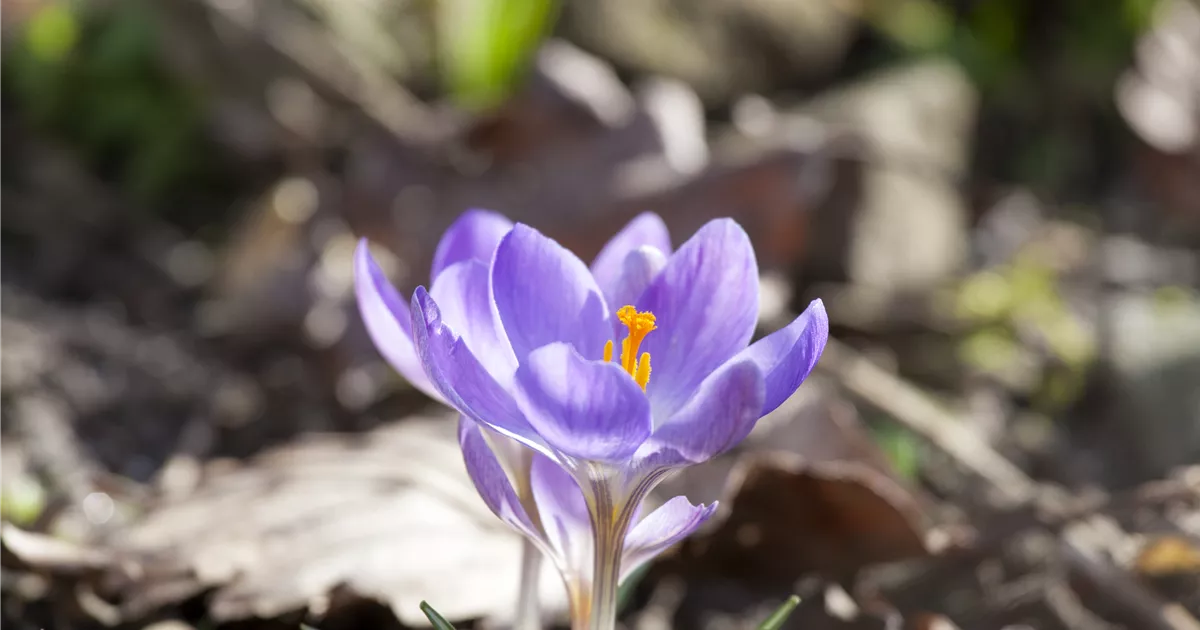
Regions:
[[829, 340], [829, 316], [824, 304], [814, 300], [791, 324], [756, 341], [738, 355], [758, 366], [767, 385], [762, 415], [774, 412], [796, 392], [817, 365]]

